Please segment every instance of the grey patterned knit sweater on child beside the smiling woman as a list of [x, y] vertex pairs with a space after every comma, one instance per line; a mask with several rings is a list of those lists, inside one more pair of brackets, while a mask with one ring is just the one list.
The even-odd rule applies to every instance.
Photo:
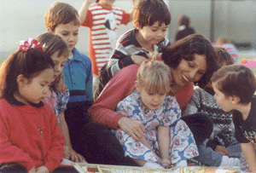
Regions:
[[183, 116], [191, 115], [195, 112], [206, 113], [213, 123], [212, 135], [207, 139], [207, 147], [214, 150], [217, 145], [227, 147], [235, 141], [233, 115], [231, 112], [224, 112], [213, 98], [213, 89], [197, 88], [189, 104], [183, 110]]

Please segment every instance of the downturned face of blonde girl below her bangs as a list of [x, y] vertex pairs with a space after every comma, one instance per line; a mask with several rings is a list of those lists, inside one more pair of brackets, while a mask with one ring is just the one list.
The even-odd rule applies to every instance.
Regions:
[[143, 104], [148, 107], [148, 109], [155, 110], [157, 109], [157, 107], [160, 107], [165, 101], [166, 93], [153, 95], [151, 93], [148, 93], [148, 91], [143, 88], [137, 88], [137, 90], [140, 93]]

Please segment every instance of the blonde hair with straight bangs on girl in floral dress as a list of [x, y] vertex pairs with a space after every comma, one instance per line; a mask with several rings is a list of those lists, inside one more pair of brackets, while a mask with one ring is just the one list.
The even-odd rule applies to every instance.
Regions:
[[137, 84], [150, 94], [170, 91], [171, 69], [163, 61], [144, 61], [137, 72]]

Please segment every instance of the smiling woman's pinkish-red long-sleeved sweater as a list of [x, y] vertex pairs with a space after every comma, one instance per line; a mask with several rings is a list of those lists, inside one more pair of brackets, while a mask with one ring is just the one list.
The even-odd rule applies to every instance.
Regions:
[[[115, 109], [119, 101], [125, 99], [134, 90], [138, 67], [136, 64], [126, 66], [111, 78], [101, 95], [88, 110], [90, 120], [106, 125], [111, 129], [119, 129], [118, 120], [125, 116], [115, 112]], [[193, 84], [189, 83], [175, 95], [181, 108], [188, 104], [193, 90]]]

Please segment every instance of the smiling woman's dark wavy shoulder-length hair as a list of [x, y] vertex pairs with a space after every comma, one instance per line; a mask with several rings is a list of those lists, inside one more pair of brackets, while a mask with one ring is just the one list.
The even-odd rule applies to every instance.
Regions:
[[206, 55], [207, 72], [203, 74], [199, 81], [194, 82], [200, 88], [204, 88], [210, 82], [212, 73], [219, 68], [217, 55], [212, 43], [201, 34], [191, 34], [188, 37], [184, 37], [173, 45], [163, 48], [162, 53], [162, 60], [172, 69], [176, 69], [182, 59], [193, 61], [195, 59], [194, 54]]

